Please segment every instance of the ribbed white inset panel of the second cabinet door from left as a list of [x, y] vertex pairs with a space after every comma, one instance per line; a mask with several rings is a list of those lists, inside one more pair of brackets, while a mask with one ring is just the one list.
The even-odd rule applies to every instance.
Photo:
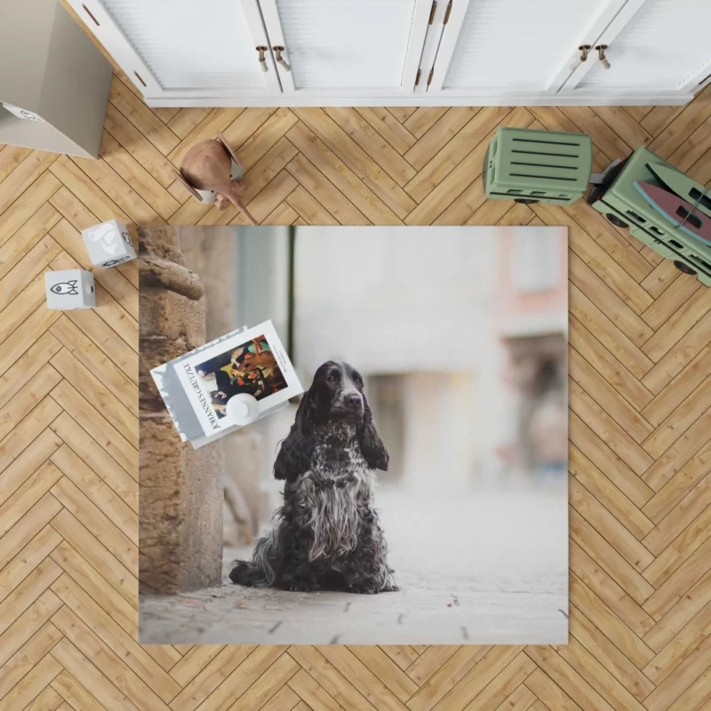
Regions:
[[296, 89], [399, 89], [415, 0], [276, 0]]

